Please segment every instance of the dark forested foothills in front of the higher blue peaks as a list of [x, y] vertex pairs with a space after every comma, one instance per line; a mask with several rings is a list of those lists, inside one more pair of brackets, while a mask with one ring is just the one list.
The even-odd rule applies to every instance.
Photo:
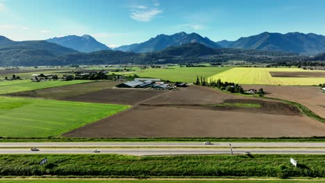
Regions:
[[[227, 60], [245, 60], [249, 62], [294, 62], [304, 60], [301, 55], [278, 51], [258, 51], [246, 49], [210, 48], [199, 43], [169, 46], [166, 49], [149, 53], [103, 50], [81, 53], [67, 49], [58, 44], [45, 41], [28, 42], [25, 47], [0, 46], [0, 66], [39, 66], [39, 65], [71, 65], [71, 64], [181, 64], [194, 62], [226, 62]], [[51, 44], [51, 45], [49, 45]], [[42, 50], [41, 48], [51, 47]], [[66, 49], [65, 53], [59, 52]], [[51, 52], [60, 54], [51, 54]]]

